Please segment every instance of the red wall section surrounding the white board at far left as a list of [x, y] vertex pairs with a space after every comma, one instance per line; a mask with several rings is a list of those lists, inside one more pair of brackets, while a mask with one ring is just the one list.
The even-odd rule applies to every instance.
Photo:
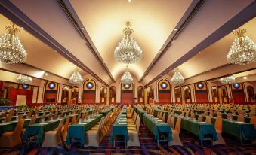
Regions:
[[16, 105], [17, 95], [25, 95], [26, 105], [31, 105], [33, 90], [23, 90], [10, 87], [8, 89], [8, 98], [11, 99], [11, 105]]

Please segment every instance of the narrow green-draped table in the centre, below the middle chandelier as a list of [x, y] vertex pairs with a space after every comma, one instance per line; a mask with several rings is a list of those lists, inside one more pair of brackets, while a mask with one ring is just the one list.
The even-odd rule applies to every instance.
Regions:
[[[117, 118], [115, 123], [113, 124], [110, 141], [109, 141], [110, 144], [113, 144], [116, 135], [123, 135], [125, 138], [125, 142], [129, 140], [127, 123], [126, 123], [126, 115], [120, 114], [119, 117], [120, 117], [119, 123], [118, 123], [119, 118]], [[125, 117], [125, 118], [122, 119], [121, 117]]]

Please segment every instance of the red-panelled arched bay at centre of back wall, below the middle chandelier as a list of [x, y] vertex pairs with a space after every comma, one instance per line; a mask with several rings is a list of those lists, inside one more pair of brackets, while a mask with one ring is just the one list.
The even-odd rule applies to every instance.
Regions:
[[121, 103], [132, 104], [134, 103], [134, 84], [121, 83]]

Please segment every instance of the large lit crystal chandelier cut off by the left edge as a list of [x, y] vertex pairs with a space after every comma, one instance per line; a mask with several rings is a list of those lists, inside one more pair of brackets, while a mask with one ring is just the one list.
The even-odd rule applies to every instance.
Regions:
[[26, 61], [26, 50], [20, 43], [20, 39], [16, 36], [20, 30], [12, 26], [6, 26], [8, 31], [0, 37], [0, 62], [7, 64], [23, 63]]

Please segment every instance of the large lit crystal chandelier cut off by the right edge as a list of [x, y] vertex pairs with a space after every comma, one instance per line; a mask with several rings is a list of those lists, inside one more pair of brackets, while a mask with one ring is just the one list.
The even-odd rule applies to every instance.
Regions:
[[238, 29], [234, 34], [238, 38], [233, 41], [230, 52], [227, 54], [227, 61], [233, 64], [247, 65], [256, 62], [256, 45], [248, 36], [245, 36], [246, 29]]

